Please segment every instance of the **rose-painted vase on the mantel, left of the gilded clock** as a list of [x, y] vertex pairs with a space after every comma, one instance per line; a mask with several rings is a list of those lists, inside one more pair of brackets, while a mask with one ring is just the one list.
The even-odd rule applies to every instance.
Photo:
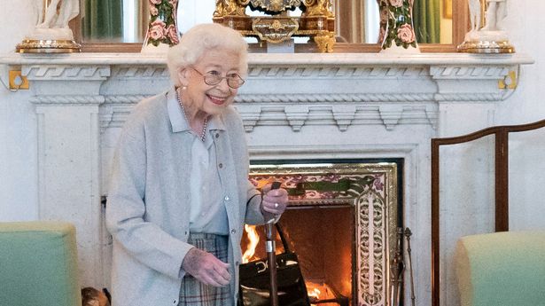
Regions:
[[176, 25], [178, 0], [148, 0], [150, 24], [145, 35], [143, 52], [167, 51], [180, 42]]

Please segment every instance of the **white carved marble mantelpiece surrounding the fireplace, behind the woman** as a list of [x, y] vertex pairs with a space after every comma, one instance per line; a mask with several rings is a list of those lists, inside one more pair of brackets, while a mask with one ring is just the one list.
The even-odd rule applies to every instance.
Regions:
[[[404, 159], [404, 224], [414, 233], [418, 305], [431, 304], [430, 138], [494, 124], [512, 90], [498, 82], [524, 54], [250, 54], [236, 100], [251, 158]], [[129, 53], [10, 54], [0, 76], [30, 82], [36, 120], [40, 219], [76, 224], [82, 285], [108, 286], [110, 238], [102, 224], [119, 129], [142, 98], [167, 90], [165, 59]], [[465, 131], [465, 130], [463, 130]], [[408, 294], [409, 290], [405, 290]]]

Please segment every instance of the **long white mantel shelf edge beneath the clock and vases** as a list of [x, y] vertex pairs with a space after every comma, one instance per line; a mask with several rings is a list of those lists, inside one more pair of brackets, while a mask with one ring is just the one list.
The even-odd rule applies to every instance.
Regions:
[[[520, 65], [532, 64], [533, 59], [524, 53], [470, 54], [470, 53], [250, 53], [252, 65]], [[4, 65], [164, 65], [166, 59], [157, 54], [142, 53], [70, 53], [70, 54], [19, 54], [0, 56]]]

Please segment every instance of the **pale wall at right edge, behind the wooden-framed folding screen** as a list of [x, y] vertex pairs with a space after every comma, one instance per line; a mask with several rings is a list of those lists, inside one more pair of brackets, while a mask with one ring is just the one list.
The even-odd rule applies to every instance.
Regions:
[[[545, 28], [541, 26], [545, 2], [510, 1], [507, 27], [511, 43], [533, 57], [535, 63], [522, 67], [518, 90], [497, 109], [497, 124], [518, 124], [545, 119]], [[511, 139], [510, 226], [512, 229], [545, 228], [545, 134]], [[520, 140], [520, 141], [514, 141]], [[528, 175], [533, 173], [534, 175]]]

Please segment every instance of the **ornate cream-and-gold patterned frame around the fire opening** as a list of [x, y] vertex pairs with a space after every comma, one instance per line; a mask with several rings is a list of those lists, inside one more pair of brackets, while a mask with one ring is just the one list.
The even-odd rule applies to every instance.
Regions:
[[[393, 162], [253, 165], [250, 180], [258, 187], [281, 181], [289, 194], [289, 210], [353, 208], [354, 216], [350, 218], [354, 232], [348, 239], [352, 240], [352, 277], [342, 282], [351, 286], [352, 305], [387, 306], [391, 305], [390, 294], [395, 285], [396, 231], [402, 227], [398, 223], [401, 206], [397, 173], [397, 164]], [[307, 211], [302, 214], [308, 214]], [[325, 224], [331, 226], [331, 222]]]

